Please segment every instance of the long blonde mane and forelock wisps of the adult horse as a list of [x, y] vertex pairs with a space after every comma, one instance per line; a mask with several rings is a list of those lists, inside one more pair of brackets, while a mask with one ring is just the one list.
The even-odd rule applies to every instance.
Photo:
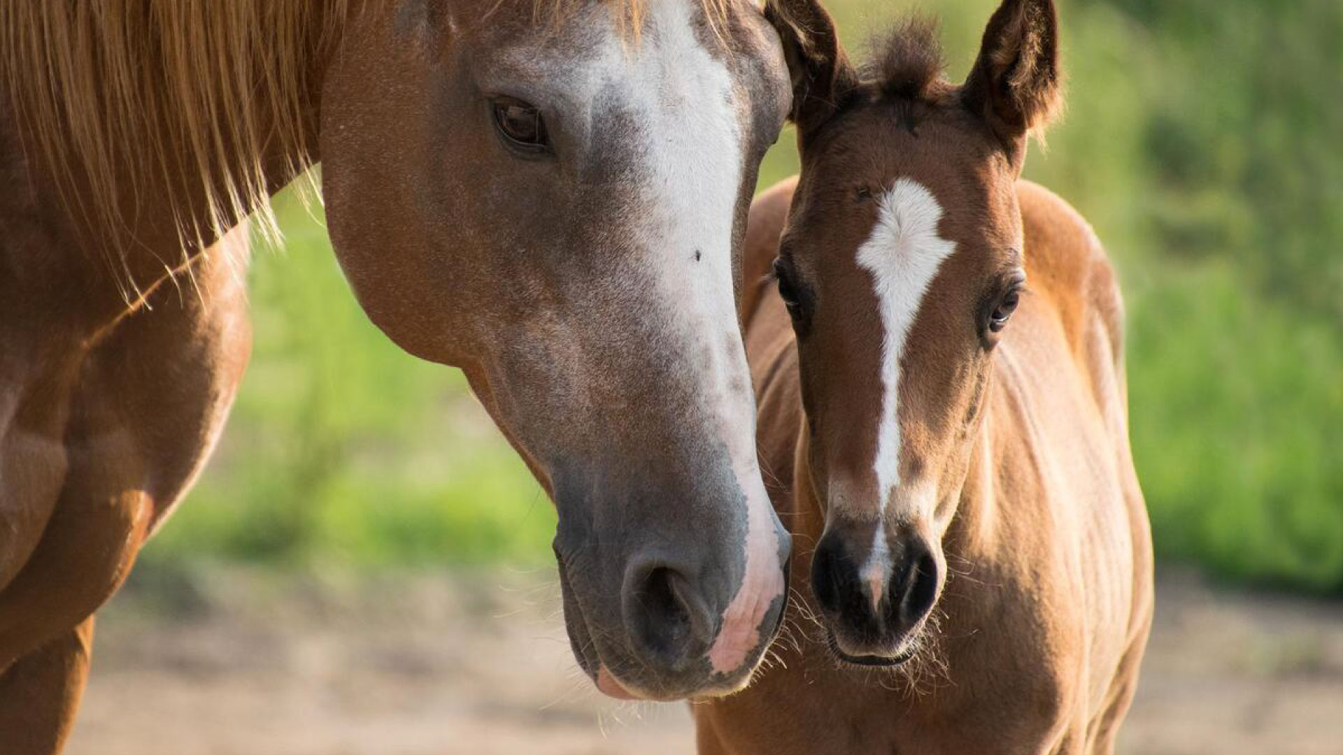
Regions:
[[[582, 0], [532, 0], [537, 19]], [[689, 0], [717, 26], [729, 0]], [[646, 0], [606, 0], [634, 36]], [[304, 99], [310, 71], [349, 15], [351, 0], [0, 0], [0, 82], [35, 134], [58, 185], [78, 177], [87, 199], [70, 210], [106, 234], [125, 265], [115, 197], [167, 181], [183, 168], [204, 207], [175, 206], [184, 254], [259, 211], [274, 234], [266, 156], [290, 175], [312, 167]], [[169, 160], [169, 146], [177, 157]], [[183, 160], [185, 161], [183, 164]], [[175, 169], [172, 165], [177, 165]], [[274, 171], [275, 165], [269, 165]], [[188, 216], [189, 215], [189, 216]], [[201, 215], [204, 218], [201, 218]]]

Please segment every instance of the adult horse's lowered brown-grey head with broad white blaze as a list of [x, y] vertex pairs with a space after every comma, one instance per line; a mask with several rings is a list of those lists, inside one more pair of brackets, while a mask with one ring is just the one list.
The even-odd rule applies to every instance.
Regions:
[[478, 26], [420, 8], [346, 43], [322, 112], [332, 236], [373, 321], [463, 367], [553, 494], [599, 686], [735, 689], [788, 552], [733, 296], [788, 105], [779, 43], [749, 4], [725, 46], [685, 0], [650, 3], [637, 40], [604, 3], [557, 27], [524, 5]]

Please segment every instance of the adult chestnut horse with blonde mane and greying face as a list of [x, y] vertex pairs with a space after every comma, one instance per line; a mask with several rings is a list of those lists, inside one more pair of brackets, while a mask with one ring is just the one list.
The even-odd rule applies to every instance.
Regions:
[[788, 552], [733, 286], [790, 101], [757, 7], [5, 0], [0, 36], [7, 755], [59, 750], [94, 610], [228, 411], [244, 254], [203, 250], [318, 160], [360, 304], [552, 494], [586, 673], [745, 684]]

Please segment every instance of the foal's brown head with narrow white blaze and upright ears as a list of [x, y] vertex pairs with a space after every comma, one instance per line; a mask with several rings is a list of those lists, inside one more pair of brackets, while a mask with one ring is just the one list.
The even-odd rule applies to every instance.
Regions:
[[1006, 0], [963, 86], [941, 79], [931, 24], [855, 70], [819, 5], [771, 13], [802, 149], [775, 273], [826, 508], [813, 590], [837, 654], [893, 665], [945, 583], [941, 539], [1025, 285], [1015, 183], [1058, 101], [1056, 13]]

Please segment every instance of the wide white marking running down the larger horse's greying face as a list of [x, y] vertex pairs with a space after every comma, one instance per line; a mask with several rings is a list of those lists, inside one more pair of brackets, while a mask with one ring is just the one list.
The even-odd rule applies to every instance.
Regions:
[[[604, 5], [596, 12], [608, 16]], [[653, 0], [638, 43], [611, 27], [599, 50], [582, 51], [583, 60], [568, 74], [568, 95], [594, 102], [600, 93], [638, 128], [638, 191], [627, 216], [615, 222], [645, 257], [641, 267], [655, 302], [647, 316], [667, 320], [659, 348], [694, 384], [709, 422], [704, 433], [727, 447], [747, 500], [745, 572], [709, 650], [713, 670], [727, 674], [760, 645], [760, 625], [782, 598], [784, 580], [732, 286], [745, 109], [731, 71], [704, 47], [690, 13], [685, 0]]]

